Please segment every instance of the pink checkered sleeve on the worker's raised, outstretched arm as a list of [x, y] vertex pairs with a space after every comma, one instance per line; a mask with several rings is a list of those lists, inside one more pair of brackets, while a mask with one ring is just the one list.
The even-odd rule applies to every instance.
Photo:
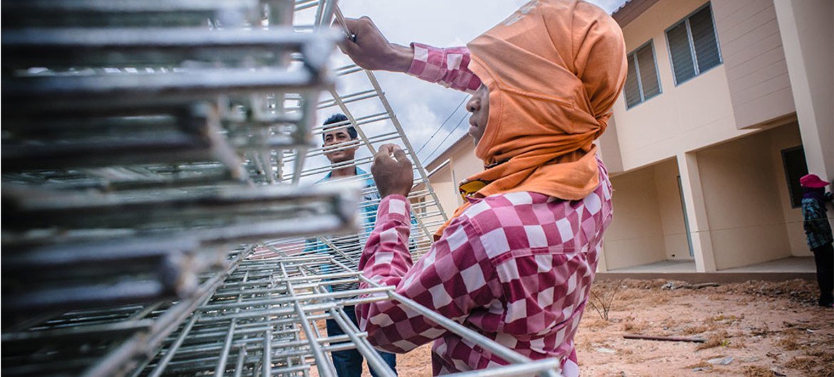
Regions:
[[422, 43], [411, 43], [411, 47], [414, 60], [409, 75], [463, 92], [474, 93], [480, 87], [480, 78], [469, 69], [469, 48], [439, 48]]

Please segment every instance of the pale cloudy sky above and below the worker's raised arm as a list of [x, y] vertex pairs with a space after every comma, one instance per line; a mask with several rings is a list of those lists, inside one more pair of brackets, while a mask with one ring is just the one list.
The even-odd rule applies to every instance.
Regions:
[[[422, 42], [437, 47], [462, 46], [490, 29], [527, 0], [342, 0], [345, 17], [368, 16], [390, 42]], [[590, 0], [612, 12], [625, 0]], [[336, 53], [339, 62], [339, 52]], [[423, 82], [402, 73], [376, 72], [406, 135], [424, 163], [452, 145], [468, 129], [463, 92]], [[340, 93], [350, 92], [340, 80]], [[457, 110], [455, 108], [457, 107]], [[329, 113], [336, 112], [335, 109]], [[327, 117], [325, 111], [320, 117]], [[448, 122], [445, 122], [447, 120]], [[442, 124], [442, 129], [435, 131]], [[434, 135], [433, 138], [430, 137]], [[442, 141], [442, 143], [441, 143]]]

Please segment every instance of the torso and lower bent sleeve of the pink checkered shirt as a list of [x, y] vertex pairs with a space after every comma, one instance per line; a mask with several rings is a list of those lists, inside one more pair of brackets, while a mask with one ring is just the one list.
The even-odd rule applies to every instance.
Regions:
[[[563, 375], [579, 375], [573, 338], [611, 221], [610, 181], [599, 166], [600, 186], [580, 201], [526, 191], [472, 200], [417, 263], [408, 248], [409, 202], [386, 196], [359, 270], [521, 355], [559, 358]], [[389, 300], [356, 312], [380, 350], [403, 353], [436, 340], [434, 375], [506, 364]]]

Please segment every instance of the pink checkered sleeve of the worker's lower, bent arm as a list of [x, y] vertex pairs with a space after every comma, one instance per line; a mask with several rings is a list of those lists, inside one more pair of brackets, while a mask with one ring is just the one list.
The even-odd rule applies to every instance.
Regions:
[[[394, 285], [400, 295], [459, 322], [500, 297], [495, 268], [475, 226], [465, 217], [452, 221], [440, 240], [413, 264], [408, 251], [409, 211], [404, 196], [386, 196], [379, 204], [376, 226], [359, 260], [365, 277]], [[439, 325], [392, 300], [356, 305], [356, 313], [359, 328], [367, 331], [379, 350], [404, 353], [445, 334]]]

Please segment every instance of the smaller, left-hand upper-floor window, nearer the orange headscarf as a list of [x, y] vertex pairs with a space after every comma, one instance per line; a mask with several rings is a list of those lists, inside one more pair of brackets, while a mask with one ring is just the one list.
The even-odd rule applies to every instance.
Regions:
[[657, 77], [655, 47], [650, 41], [628, 54], [625, 105], [631, 108], [658, 94], [661, 94], [661, 81]]

